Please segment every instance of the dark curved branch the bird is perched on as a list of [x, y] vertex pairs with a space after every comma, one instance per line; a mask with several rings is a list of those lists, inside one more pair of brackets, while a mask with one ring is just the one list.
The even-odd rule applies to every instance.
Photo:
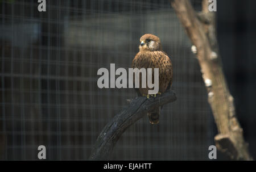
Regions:
[[136, 97], [133, 99], [127, 108], [115, 115], [106, 124], [97, 138], [89, 160], [107, 160], [112, 153], [115, 143], [130, 125], [141, 119], [153, 108], [174, 102], [176, 99], [175, 92], [171, 90], [155, 98]]

